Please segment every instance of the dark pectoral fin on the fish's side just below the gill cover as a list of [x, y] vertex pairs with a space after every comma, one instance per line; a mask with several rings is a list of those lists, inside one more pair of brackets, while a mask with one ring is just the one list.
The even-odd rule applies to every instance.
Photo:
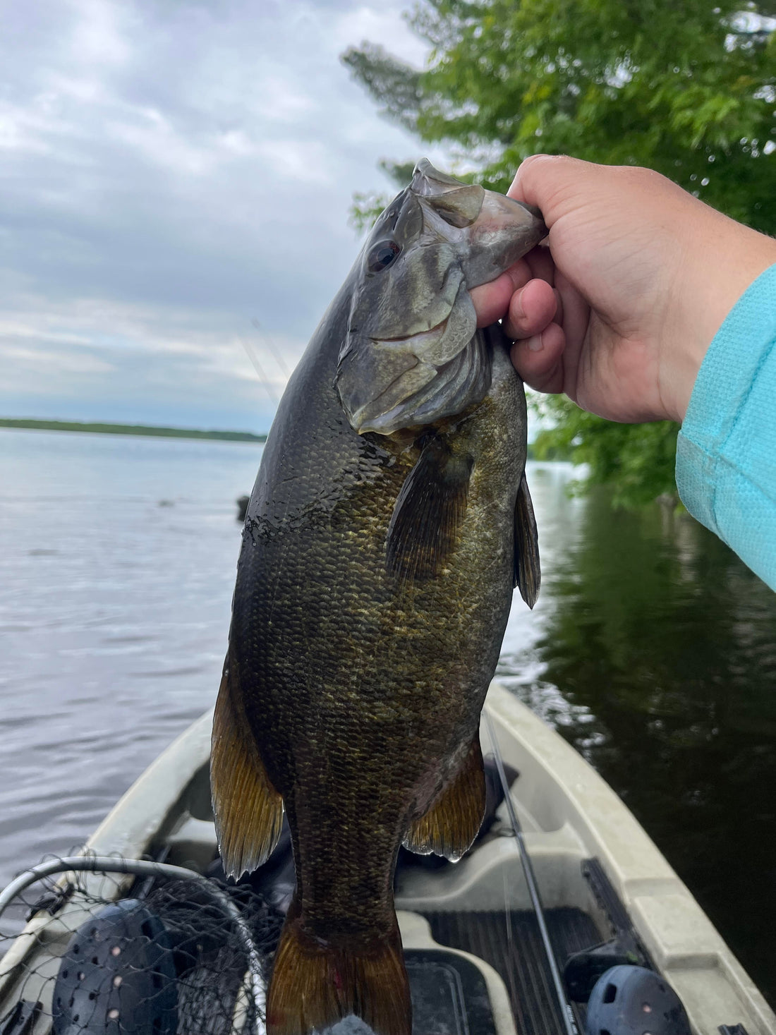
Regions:
[[439, 574], [455, 550], [469, 495], [471, 456], [438, 436], [423, 446], [396, 498], [386, 539], [386, 567], [401, 579]]

